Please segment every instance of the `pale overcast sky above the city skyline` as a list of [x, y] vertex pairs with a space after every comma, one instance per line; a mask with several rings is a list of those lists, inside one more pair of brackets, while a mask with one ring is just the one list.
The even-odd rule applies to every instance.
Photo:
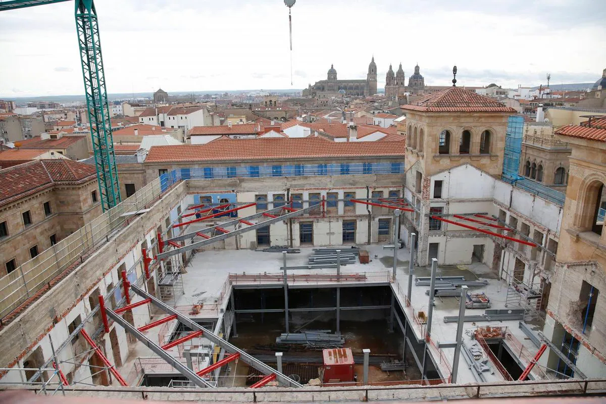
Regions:
[[[0, 13], [0, 98], [82, 94], [73, 1]], [[304, 88], [364, 79], [371, 56], [426, 85], [594, 82], [604, 0], [298, 0], [290, 84], [282, 0], [96, 0], [109, 93]]]

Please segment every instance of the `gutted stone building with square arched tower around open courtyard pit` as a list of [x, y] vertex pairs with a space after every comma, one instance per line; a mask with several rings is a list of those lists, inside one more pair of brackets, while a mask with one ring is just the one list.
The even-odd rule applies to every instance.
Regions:
[[156, 400], [604, 391], [598, 285], [579, 286], [589, 340], [550, 296], [556, 257], [582, 272], [558, 248], [568, 205], [500, 179], [509, 108], [457, 87], [407, 108], [401, 165], [243, 157], [209, 176], [193, 149], [152, 147], [157, 179], [0, 278], [0, 382]]

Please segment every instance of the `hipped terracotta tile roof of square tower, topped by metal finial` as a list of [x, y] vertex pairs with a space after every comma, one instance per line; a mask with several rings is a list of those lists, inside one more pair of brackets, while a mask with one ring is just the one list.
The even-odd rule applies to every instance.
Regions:
[[501, 102], [481, 96], [461, 87], [448, 87], [435, 93], [422, 96], [407, 105], [404, 110], [425, 112], [508, 112], [516, 110]]

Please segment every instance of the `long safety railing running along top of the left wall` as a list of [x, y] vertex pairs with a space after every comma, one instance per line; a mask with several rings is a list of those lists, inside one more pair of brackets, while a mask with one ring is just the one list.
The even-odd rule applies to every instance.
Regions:
[[[58, 281], [58, 276], [107, 242], [112, 233], [128, 223], [129, 212], [142, 210], [158, 199], [177, 180], [159, 177], [48, 250], [0, 278], [0, 325], [10, 320], [13, 310], [28, 299], [41, 296]], [[164, 185], [164, 186], [163, 186]]]

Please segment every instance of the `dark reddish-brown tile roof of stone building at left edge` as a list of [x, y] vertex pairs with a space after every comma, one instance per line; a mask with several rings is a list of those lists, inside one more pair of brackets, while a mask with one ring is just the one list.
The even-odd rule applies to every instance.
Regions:
[[37, 160], [0, 170], [0, 207], [53, 184], [84, 184], [96, 179], [94, 165], [70, 159]]

